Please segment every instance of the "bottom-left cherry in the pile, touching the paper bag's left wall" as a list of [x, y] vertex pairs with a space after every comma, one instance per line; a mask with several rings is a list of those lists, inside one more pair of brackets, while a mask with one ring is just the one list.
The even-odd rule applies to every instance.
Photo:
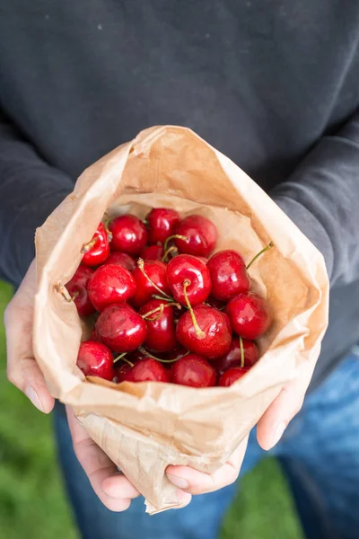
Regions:
[[110, 349], [101, 342], [93, 340], [80, 344], [77, 367], [85, 376], [100, 376], [105, 380], [112, 380], [116, 375]]

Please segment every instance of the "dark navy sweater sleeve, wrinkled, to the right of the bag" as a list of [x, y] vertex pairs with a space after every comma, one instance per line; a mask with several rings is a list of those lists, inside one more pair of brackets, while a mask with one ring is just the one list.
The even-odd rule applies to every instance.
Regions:
[[331, 286], [359, 279], [359, 111], [270, 194], [322, 252]]

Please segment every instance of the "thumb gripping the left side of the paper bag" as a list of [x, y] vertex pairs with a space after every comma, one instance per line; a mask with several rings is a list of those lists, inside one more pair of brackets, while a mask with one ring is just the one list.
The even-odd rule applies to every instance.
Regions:
[[[32, 404], [45, 413], [55, 404], [48, 393], [44, 376], [32, 356], [31, 322], [22, 321], [16, 310], [9, 309], [4, 316], [6, 332], [7, 377], [9, 381], [25, 393]], [[29, 314], [29, 317], [31, 315]], [[28, 324], [30, 327], [27, 327]]]

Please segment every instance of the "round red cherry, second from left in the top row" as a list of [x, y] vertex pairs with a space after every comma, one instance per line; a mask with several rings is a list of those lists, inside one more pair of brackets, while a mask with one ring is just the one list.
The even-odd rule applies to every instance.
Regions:
[[112, 233], [111, 250], [138, 255], [147, 243], [147, 229], [136, 216], [118, 216], [109, 225]]

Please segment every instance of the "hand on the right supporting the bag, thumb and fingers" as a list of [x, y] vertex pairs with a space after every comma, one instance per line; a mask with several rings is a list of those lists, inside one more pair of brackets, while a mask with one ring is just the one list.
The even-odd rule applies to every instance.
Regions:
[[[313, 364], [303, 364], [295, 379], [283, 387], [258, 421], [257, 438], [263, 449], [269, 450], [276, 446], [289, 421], [301, 410], [314, 367]], [[205, 494], [222, 489], [237, 480], [247, 442], [248, 437], [243, 440], [228, 462], [215, 473], [201, 473], [189, 466], [169, 466], [166, 470], [167, 477], [176, 487], [189, 494]]]

